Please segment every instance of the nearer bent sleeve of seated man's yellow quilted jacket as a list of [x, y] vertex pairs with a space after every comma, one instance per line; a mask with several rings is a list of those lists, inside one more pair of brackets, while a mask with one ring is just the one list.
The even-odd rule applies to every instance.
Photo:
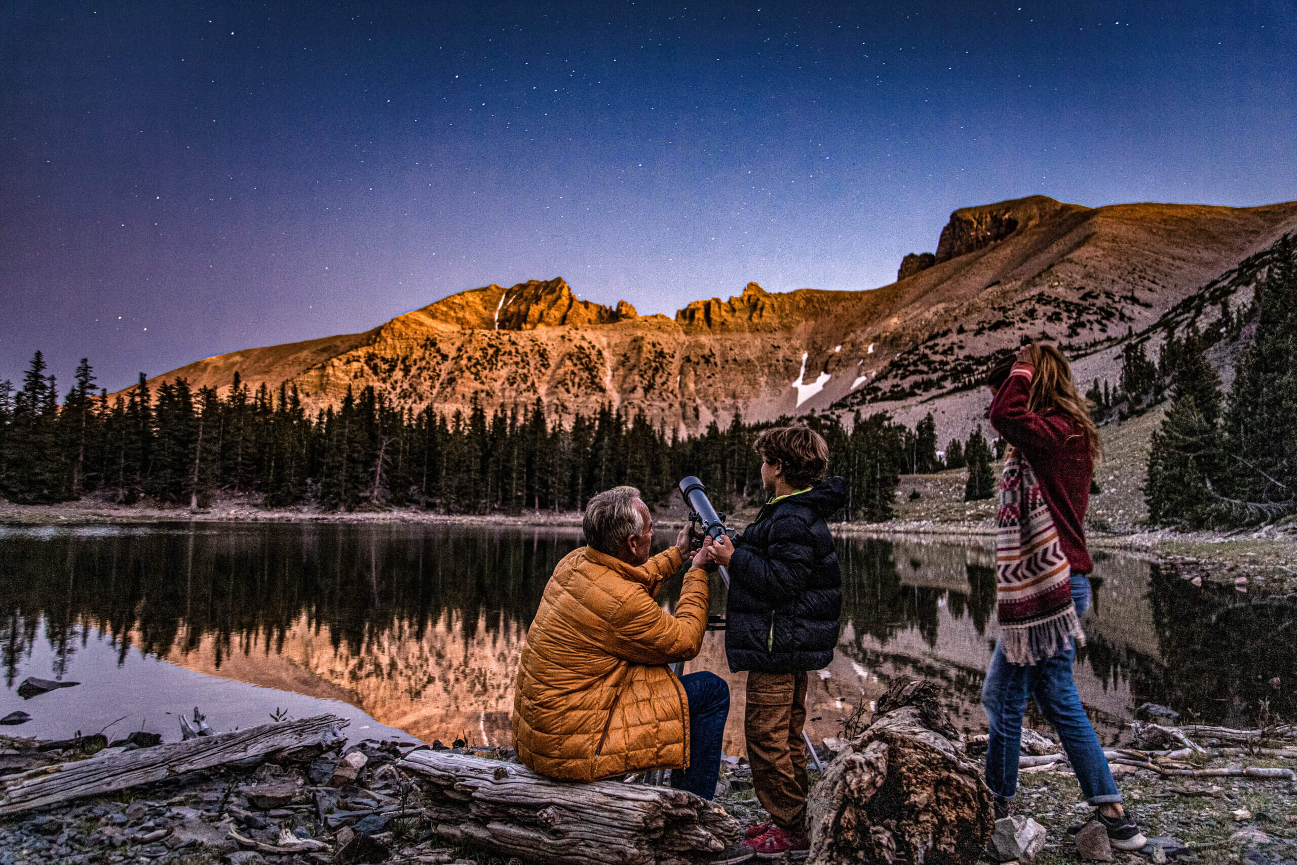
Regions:
[[707, 630], [707, 572], [690, 568], [676, 615], [637, 591], [612, 615], [610, 651], [636, 664], [674, 664], [694, 658]]

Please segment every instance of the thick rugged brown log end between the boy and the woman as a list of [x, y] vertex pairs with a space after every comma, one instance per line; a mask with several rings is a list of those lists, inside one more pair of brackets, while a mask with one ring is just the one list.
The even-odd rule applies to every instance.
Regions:
[[995, 830], [991, 791], [930, 682], [898, 682], [811, 790], [809, 865], [973, 865]]

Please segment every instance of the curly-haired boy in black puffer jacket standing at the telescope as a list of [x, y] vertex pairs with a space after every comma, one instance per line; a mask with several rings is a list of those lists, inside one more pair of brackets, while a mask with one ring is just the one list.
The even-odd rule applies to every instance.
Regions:
[[840, 510], [843, 479], [816, 484], [829, 446], [805, 427], [776, 427], [754, 445], [769, 501], [732, 543], [720, 537], [712, 560], [730, 572], [725, 652], [747, 670], [743, 733], [752, 787], [769, 824], [744, 833], [763, 859], [809, 849], [805, 834], [807, 672], [824, 669], [838, 645], [842, 580], [825, 519]]

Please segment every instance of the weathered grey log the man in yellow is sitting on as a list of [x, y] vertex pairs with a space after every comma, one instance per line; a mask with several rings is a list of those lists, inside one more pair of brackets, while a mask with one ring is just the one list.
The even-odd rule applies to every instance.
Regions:
[[739, 824], [691, 792], [553, 781], [516, 763], [415, 751], [397, 766], [427, 783], [442, 838], [541, 862], [689, 865], [738, 839]]

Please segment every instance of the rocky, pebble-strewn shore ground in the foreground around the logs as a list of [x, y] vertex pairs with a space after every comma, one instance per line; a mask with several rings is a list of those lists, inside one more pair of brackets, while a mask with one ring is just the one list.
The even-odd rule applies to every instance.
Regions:
[[[1170, 720], [1158, 715], [1162, 707], [1141, 711]], [[1291, 772], [1297, 761], [1297, 728], [1239, 731], [1136, 722], [1131, 730], [1122, 735], [1131, 739], [1130, 747], [1110, 746], [1115, 750], [1109, 751], [1109, 760], [1150, 843], [1134, 853], [1086, 847], [1087, 856], [1154, 865], [1169, 859], [1201, 865], [1297, 861], [1297, 781]], [[1189, 735], [1195, 741], [1188, 742]], [[40, 743], [0, 737], [0, 787], [12, 786], [18, 772], [93, 760], [104, 746], [91, 739]], [[965, 739], [970, 755], [977, 753], [979, 741], [984, 737]], [[1192, 747], [1178, 747], [1182, 742]], [[1078, 843], [1084, 844], [1067, 827], [1082, 822], [1089, 807], [1048, 730], [1029, 730], [1023, 746], [1018, 796], [1010, 811], [1016, 825], [1027, 827], [1019, 831], [1026, 849], [996, 855], [992, 844], [984, 860], [996, 865], [1008, 859], [1074, 862], [1080, 857]], [[106, 751], [137, 747], [126, 743]], [[420, 808], [418, 778], [396, 765], [418, 747], [423, 746], [333, 741], [0, 817], [0, 865], [529, 865], [437, 838]], [[827, 764], [847, 747], [844, 739], [826, 739], [817, 751]], [[434, 742], [432, 748], [516, 761], [511, 750], [464, 747], [459, 741], [450, 748]], [[1240, 770], [1270, 777], [1228, 774]], [[715, 803], [744, 825], [765, 818], [742, 759], [722, 763]], [[1029, 817], [1036, 829], [1030, 829]]]

